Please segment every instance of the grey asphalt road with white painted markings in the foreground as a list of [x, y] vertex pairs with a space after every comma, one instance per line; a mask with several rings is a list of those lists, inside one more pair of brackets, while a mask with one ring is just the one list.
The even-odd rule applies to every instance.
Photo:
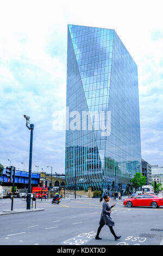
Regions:
[[[102, 202], [103, 203], [103, 202]], [[102, 210], [99, 199], [61, 199], [61, 203], [37, 202], [45, 211], [0, 216], [0, 245], [160, 245], [163, 243], [163, 208], [126, 208], [122, 201], [112, 208], [114, 240], [109, 228], [101, 230], [102, 240], [95, 240]], [[0, 211], [10, 209], [10, 199], [0, 199]], [[26, 208], [26, 201], [16, 198], [14, 209]]]

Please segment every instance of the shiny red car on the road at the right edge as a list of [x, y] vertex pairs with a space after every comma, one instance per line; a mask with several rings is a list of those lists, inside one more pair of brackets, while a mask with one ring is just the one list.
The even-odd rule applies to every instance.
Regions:
[[139, 194], [139, 196], [124, 200], [123, 205], [128, 207], [152, 206], [152, 208], [157, 208], [163, 205], [163, 198], [157, 197], [155, 194]]

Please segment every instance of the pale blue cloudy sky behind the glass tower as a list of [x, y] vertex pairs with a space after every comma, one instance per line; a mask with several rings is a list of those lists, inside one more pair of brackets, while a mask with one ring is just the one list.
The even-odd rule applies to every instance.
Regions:
[[139, 71], [142, 158], [163, 166], [162, 0], [0, 2], [0, 162], [65, 172], [65, 131], [53, 113], [66, 106], [67, 24], [115, 29]]

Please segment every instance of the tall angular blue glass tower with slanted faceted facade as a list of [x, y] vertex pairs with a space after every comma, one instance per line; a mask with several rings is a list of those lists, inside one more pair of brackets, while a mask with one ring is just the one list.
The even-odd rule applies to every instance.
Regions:
[[125, 189], [141, 171], [139, 92], [137, 66], [114, 30], [68, 25], [66, 106], [67, 187]]

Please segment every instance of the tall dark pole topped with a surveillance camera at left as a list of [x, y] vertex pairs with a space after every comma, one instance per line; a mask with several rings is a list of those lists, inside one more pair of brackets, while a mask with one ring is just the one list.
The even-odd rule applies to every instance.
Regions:
[[[30, 117], [24, 115], [26, 119], [26, 126], [30, 130], [30, 149], [29, 149], [29, 176], [28, 176], [28, 194], [27, 194], [27, 210], [30, 210], [30, 199], [31, 199], [31, 174], [32, 174], [32, 148], [33, 148], [33, 130], [34, 124], [30, 124]], [[30, 124], [30, 126], [29, 126]]]

